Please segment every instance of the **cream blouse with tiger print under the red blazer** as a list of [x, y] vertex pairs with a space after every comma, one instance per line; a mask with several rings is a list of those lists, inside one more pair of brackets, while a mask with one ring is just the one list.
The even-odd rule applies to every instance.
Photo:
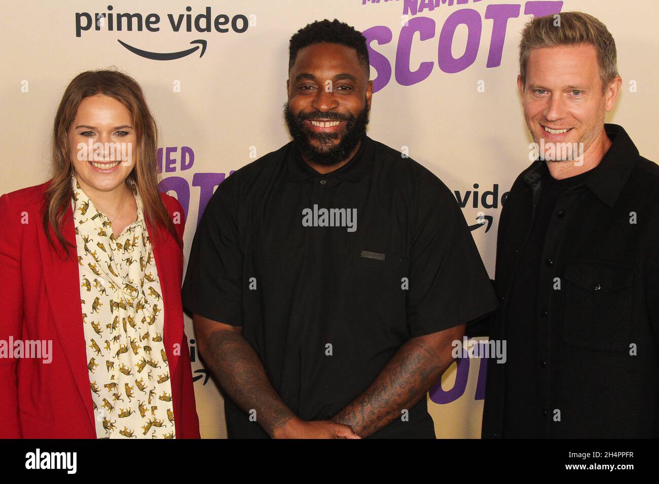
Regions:
[[72, 176], [80, 303], [100, 439], [173, 439], [171, 384], [163, 344], [163, 300], [142, 199], [115, 239]]

